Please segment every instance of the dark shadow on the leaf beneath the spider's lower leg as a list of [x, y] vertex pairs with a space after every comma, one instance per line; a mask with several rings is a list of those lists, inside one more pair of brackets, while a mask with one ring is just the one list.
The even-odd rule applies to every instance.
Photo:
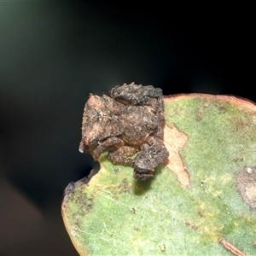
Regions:
[[164, 167], [165, 167], [164, 164], [160, 164], [159, 166], [157, 166], [154, 171], [154, 177], [150, 177], [147, 180], [139, 181], [139, 180], [134, 179], [134, 181], [132, 183], [133, 194], [134, 195], [143, 195], [149, 189], [151, 189], [152, 186], [154, 185], [155, 180], [157, 179], [157, 176], [162, 172]]

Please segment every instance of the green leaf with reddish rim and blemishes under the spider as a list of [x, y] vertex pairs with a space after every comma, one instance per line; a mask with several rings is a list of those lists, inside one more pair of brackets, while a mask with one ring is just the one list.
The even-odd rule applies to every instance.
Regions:
[[[255, 255], [256, 107], [231, 96], [165, 98], [169, 161], [137, 182], [106, 154], [61, 212], [80, 255]], [[254, 245], [254, 247], [253, 247]]]

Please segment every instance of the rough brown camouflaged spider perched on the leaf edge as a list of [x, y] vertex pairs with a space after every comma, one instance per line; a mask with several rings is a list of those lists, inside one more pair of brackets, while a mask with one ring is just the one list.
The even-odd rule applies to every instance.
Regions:
[[[108, 149], [114, 163], [133, 167], [135, 179], [153, 177], [154, 168], [169, 156], [162, 142], [162, 90], [131, 83], [117, 85], [109, 94], [88, 97], [79, 151], [97, 160]], [[136, 153], [134, 159], [128, 157]]]

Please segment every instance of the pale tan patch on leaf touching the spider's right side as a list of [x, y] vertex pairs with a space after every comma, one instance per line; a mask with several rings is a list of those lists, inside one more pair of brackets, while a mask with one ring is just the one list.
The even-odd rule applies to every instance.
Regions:
[[165, 126], [164, 143], [169, 151], [166, 166], [177, 175], [177, 180], [182, 187], [188, 187], [190, 184], [189, 173], [183, 165], [183, 160], [179, 154], [179, 150], [183, 148], [187, 140], [188, 137], [183, 132], [178, 131], [175, 125], [172, 125], [172, 127]]

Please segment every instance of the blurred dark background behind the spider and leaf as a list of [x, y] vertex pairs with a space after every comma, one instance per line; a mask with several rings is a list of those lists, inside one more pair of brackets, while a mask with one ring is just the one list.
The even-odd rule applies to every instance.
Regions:
[[252, 7], [138, 3], [0, 3], [0, 254], [77, 255], [61, 200], [95, 165], [78, 150], [90, 92], [256, 100]]

